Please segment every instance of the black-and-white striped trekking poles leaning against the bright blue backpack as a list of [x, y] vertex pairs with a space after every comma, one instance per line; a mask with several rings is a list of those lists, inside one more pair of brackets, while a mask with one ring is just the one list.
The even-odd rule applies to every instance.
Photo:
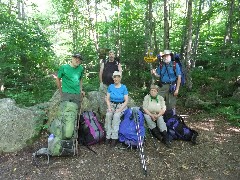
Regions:
[[138, 147], [139, 147], [139, 155], [141, 158], [141, 163], [142, 163], [142, 168], [144, 170], [144, 175], [147, 176], [147, 166], [146, 166], [146, 160], [145, 160], [145, 155], [144, 155], [144, 148], [143, 148], [143, 140], [142, 137], [140, 136], [140, 126], [139, 126], [139, 120], [138, 120], [138, 112], [137, 108], [133, 108], [133, 118], [136, 124], [136, 131], [137, 131], [137, 137], [138, 137]]

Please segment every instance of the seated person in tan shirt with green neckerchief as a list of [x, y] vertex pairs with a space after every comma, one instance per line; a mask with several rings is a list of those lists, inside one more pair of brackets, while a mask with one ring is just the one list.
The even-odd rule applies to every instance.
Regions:
[[144, 97], [143, 110], [144, 118], [153, 135], [158, 140], [163, 141], [167, 147], [170, 147], [170, 141], [167, 135], [167, 126], [163, 119], [163, 114], [166, 111], [166, 105], [163, 97], [158, 95], [157, 85], [151, 85], [150, 94]]

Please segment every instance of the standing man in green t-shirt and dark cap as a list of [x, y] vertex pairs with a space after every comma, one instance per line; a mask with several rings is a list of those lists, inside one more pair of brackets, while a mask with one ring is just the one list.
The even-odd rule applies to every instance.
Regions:
[[81, 64], [82, 57], [80, 54], [72, 55], [70, 64], [60, 66], [56, 82], [62, 101], [71, 101], [80, 108], [80, 96], [85, 92], [82, 90], [82, 78], [84, 68]]

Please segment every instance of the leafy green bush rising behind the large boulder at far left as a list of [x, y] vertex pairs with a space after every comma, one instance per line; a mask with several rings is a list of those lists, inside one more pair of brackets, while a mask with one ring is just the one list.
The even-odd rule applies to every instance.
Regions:
[[4, 94], [30, 106], [48, 100], [53, 91], [45, 77], [55, 69], [48, 35], [33, 19], [20, 21], [8, 11], [0, 16], [0, 79]]

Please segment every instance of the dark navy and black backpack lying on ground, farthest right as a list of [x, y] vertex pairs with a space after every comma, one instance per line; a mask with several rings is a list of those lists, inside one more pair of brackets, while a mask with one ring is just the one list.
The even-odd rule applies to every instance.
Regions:
[[172, 110], [169, 110], [165, 112], [163, 118], [168, 128], [170, 140], [181, 139], [196, 144], [197, 131], [189, 128], [181, 116], [173, 115]]

